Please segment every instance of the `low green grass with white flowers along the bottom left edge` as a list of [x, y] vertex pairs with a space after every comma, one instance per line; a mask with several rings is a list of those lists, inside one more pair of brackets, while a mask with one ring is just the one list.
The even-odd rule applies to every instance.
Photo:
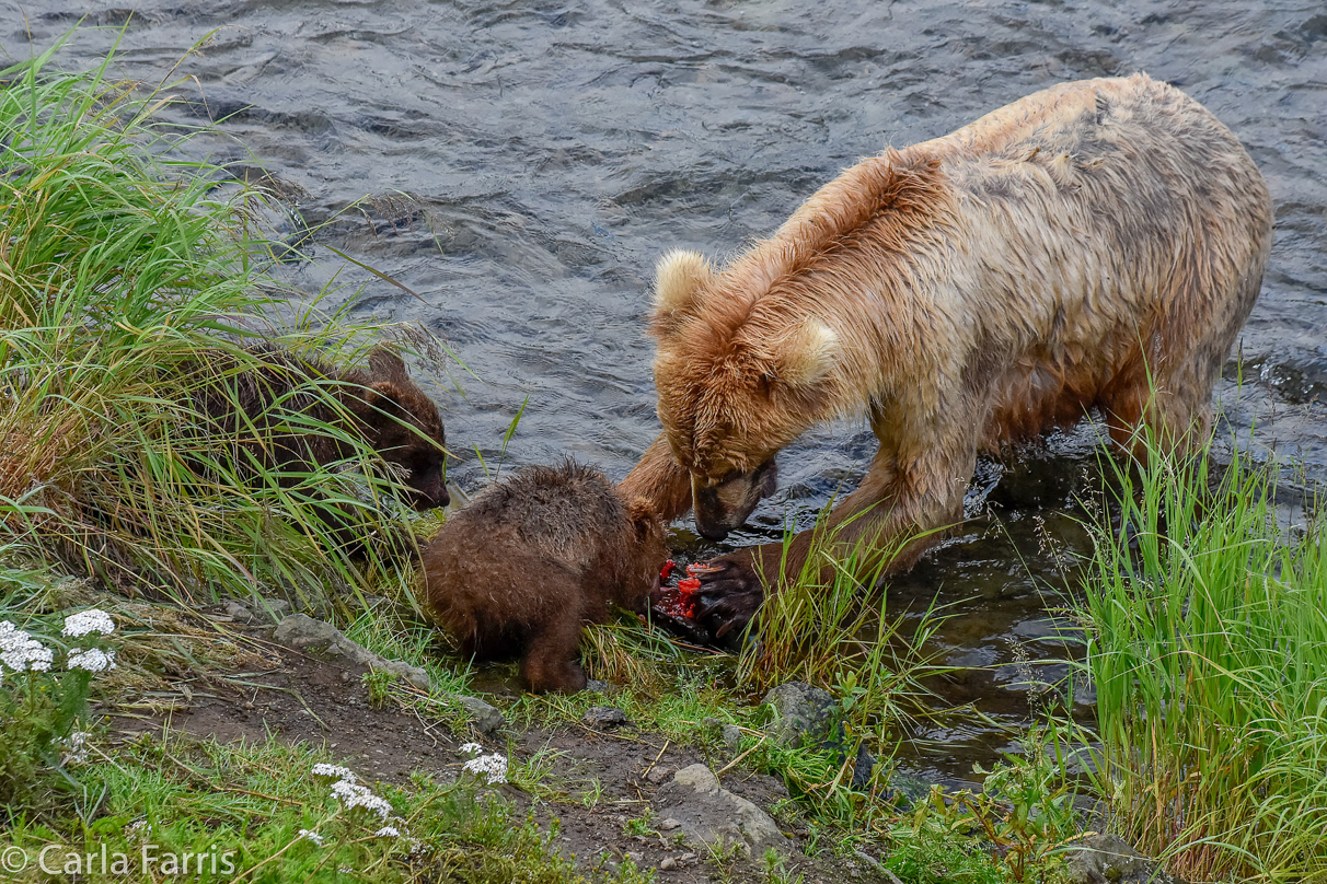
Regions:
[[[462, 757], [454, 765], [460, 767]], [[630, 864], [600, 863], [588, 873], [573, 868], [557, 843], [557, 823], [537, 824], [504, 795], [463, 774], [456, 779], [415, 775], [405, 786], [370, 785], [391, 804], [387, 823], [399, 835], [377, 835], [377, 814], [345, 808], [332, 795], [332, 779], [311, 775], [333, 761], [305, 745], [269, 740], [256, 745], [145, 736], [113, 751], [107, 763], [73, 769], [85, 795], [81, 819], [19, 820], [8, 842], [32, 863], [27, 876], [44, 880], [36, 856], [64, 867], [84, 859], [78, 880], [159, 880], [169, 856], [203, 857], [202, 880], [272, 884], [288, 881], [446, 881], [463, 884], [583, 884], [649, 881]], [[94, 812], [93, 812], [94, 811]], [[317, 834], [321, 844], [301, 836]], [[145, 844], [150, 844], [145, 863]], [[126, 875], [102, 869], [126, 859]], [[198, 861], [196, 859], [192, 861]], [[214, 861], [218, 869], [212, 871]], [[188, 875], [178, 877], [194, 877]]]

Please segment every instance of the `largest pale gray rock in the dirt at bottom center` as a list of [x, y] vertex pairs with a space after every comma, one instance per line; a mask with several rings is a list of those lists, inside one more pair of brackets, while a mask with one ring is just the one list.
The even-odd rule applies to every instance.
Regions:
[[654, 795], [654, 811], [673, 819], [691, 843], [742, 843], [752, 856], [767, 848], [791, 850], [774, 819], [719, 786], [705, 765], [683, 767]]

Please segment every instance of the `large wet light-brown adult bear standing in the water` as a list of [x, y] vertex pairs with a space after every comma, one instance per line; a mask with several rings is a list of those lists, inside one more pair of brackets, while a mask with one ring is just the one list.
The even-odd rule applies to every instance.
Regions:
[[[865, 415], [880, 451], [831, 525], [856, 516], [840, 538], [908, 567], [961, 518], [979, 451], [1089, 408], [1121, 444], [1144, 424], [1202, 439], [1270, 244], [1257, 167], [1177, 89], [1136, 74], [1028, 95], [863, 160], [722, 269], [665, 256], [664, 432], [624, 490], [669, 517], [694, 502], [722, 538], [772, 490], [779, 449]], [[808, 546], [796, 537], [790, 573]], [[750, 620], [782, 553], [711, 562], [717, 635]]]

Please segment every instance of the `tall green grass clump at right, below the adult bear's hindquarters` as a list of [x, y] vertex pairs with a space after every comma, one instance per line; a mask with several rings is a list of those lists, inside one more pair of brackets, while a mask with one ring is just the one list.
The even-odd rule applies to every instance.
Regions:
[[1119, 469], [1087, 668], [1115, 824], [1193, 880], [1327, 876], [1327, 551], [1277, 520], [1275, 465], [1149, 444]]

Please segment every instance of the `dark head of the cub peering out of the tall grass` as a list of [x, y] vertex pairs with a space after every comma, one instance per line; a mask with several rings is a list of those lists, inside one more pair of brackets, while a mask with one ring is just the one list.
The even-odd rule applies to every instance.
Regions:
[[415, 509], [446, 506], [446, 436], [438, 407], [406, 374], [406, 364], [390, 347], [377, 346], [369, 354], [372, 406], [365, 416], [365, 436], [382, 459], [406, 470], [406, 485], [414, 492]]

